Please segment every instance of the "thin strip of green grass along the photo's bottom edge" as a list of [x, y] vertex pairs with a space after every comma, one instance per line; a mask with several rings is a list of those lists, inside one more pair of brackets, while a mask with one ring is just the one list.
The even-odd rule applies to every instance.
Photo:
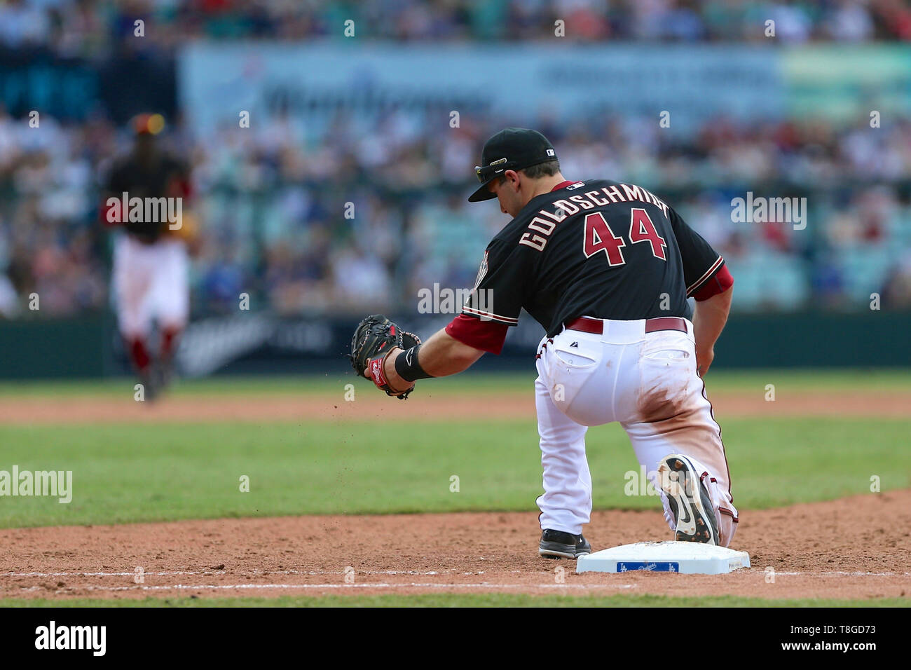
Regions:
[[908, 598], [769, 600], [734, 595], [527, 595], [520, 593], [415, 593], [277, 598], [146, 598], [144, 600], [0, 599], [0, 607], [911, 607]]

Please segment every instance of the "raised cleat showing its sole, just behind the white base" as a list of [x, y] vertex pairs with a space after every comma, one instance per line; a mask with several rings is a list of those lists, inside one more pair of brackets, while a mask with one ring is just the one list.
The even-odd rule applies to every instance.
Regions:
[[677, 521], [674, 540], [717, 545], [715, 506], [692, 461], [680, 454], [660, 459], [658, 482], [668, 496], [670, 513]]

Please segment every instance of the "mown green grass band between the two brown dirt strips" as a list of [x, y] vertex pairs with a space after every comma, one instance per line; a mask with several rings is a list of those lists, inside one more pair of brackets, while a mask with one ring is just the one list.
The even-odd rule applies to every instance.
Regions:
[[[457, 419], [457, 420], [456, 420]], [[744, 510], [906, 488], [911, 419], [722, 421]], [[533, 421], [0, 426], [0, 469], [72, 470], [73, 500], [5, 497], [0, 527], [285, 514], [533, 510]], [[638, 472], [617, 426], [589, 430], [596, 508], [655, 508], [627, 495]], [[250, 478], [241, 492], [240, 478]], [[450, 491], [450, 477], [459, 491]]]

